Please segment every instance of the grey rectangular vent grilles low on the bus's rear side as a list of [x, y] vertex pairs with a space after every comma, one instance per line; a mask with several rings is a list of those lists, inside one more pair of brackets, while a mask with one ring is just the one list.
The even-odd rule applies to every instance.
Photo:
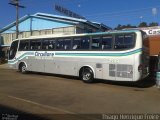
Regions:
[[110, 64], [109, 76], [121, 78], [133, 78], [133, 66], [125, 64]]

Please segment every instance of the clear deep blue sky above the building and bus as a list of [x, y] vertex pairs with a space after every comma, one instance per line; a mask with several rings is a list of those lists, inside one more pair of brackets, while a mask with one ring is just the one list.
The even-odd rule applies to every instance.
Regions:
[[[0, 0], [0, 29], [16, 20], [16, 9], [8, 4], [11, 0]], [[93, 22], [111, 28], [121, 25], [139, 25], [158, 22], [160, 0], [19, 0], [26, 8], [20, 8], [19, 17], [37, 12], [63, 15], [54, 9], [61, 5]]]

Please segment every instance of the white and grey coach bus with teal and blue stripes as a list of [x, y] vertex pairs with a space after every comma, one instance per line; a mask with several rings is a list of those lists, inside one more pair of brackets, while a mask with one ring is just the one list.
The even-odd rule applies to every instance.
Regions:
[[95, 79], [138, 81], [148, 75], [146, 35], [139, 30], [16, 39], [8, 63], [27, 71]]

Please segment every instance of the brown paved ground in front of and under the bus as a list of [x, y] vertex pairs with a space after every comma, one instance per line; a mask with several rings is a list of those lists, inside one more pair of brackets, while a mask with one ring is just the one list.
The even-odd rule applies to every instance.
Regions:
[[91, 119], [94, 114], [158, 114], [160, 90], [151, 78], [136, 84], [102, 80], [86, 84], [74, 77], [21, 74], [0, 65], [0, 106], [56, 120], [77, 114], [92, 114]]

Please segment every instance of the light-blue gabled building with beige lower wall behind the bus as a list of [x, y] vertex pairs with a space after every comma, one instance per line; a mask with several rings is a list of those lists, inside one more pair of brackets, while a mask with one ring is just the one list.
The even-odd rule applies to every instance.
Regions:
[[[79, 34], [107, 31], [111, 28], [104, 24], [66, 16], [36, 13], [19, 19], [19, 38], [46, 34]], [[16, 22], [0, 30], [0, 57], [16, 38]]]

